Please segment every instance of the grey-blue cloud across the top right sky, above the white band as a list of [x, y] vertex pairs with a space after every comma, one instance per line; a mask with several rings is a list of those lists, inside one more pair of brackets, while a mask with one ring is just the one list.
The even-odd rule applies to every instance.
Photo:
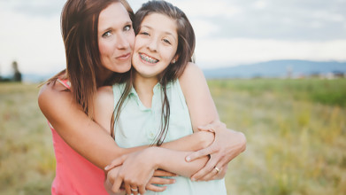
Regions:
[[[226, 4], [219, 0], [212, 4], [214, 2], [223, 5], [223, 8], [210, 6], [209, 12], [214, 14], [204, 14], [208, 11], [204, 11], [202, 6], [191, 14], [219, 26], [219, 31], [210, 37], [292, 41], [346, 38], [346, 1], [234, 0]], [[227, 10], [233, 8], [238, 12], [226, 16]]]

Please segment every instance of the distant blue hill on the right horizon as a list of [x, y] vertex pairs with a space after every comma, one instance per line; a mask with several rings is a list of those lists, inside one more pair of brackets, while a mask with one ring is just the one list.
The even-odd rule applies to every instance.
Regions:
[[204, 69], [206, 78], [285, 77], [288, 75], [288, 72], [290, 72], [292, 76], [327, 74], [333, 72], [346, 73], [346, 62], [273, 60], [242, 66]]

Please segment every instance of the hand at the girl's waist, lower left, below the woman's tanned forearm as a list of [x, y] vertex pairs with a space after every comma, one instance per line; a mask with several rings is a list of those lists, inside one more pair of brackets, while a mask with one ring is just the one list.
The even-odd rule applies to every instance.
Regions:
[[[113, 160], [109, 166], [104, 168], [110, 170], [119, 165], [122, 165], [119, 169], [118, 175], [110, 181], [112, 183], [111, 191], [118, 192], [121, 184], [124, 184], [125, 191], [127, 194], [144, 194], [148, 183], [172, 183], [172, 180], [167, 182], [154, 175], [154, 171], [158, 168], [158, 164], [155, 161], [155, 147], [147, 148], [141, 152], [133, 152], [130, 154], [123, 155], [116, 160]], [[162, 172], [157, 175], [163, 175]], [[150, 180], [151, 179], [151, 180]], [[150, 189], [165, 190], [158, 186], [149, 184]], [[158, 187], [158, 188], [156, 188]], [[150, 190], [148, 189], [148, 190]]]

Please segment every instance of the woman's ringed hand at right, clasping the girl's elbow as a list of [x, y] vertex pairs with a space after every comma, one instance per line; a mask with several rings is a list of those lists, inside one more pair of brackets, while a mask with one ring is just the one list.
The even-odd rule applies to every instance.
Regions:
[[228, 163], [245, 151], [245, 136], [241, 132], [227, 129], [226, 125], [220, 121], [213, 121], [211, 124], [198, 129], [214, 132], [215, 139], [210, 146], [187, 156], [186, 160], [191, 161], [210, 155], [208, 163], [192, 175], [191, 180], [209, 181], [223, 178], [226, 175]]

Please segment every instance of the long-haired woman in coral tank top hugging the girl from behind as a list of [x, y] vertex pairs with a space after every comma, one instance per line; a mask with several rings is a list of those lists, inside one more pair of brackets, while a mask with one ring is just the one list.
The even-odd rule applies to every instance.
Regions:
[[[122, 5], [118, 7], [119, 10], [114, 11], [119, 13], [112, 17], [116, 23], [109, 25], [118, 37], [109, 44], [114, 47], [117, 56], [107, 58], [107, 55], [101, 53], [102, 41], [99, 39], [104, 34], [100, 34], [98, 22], [100, 12], [113, 3]], [[44, 84], [38, 98], [42, 113], [50, 121], [57, 158], [57, 174], [52, 184], [52, 194], [103, 194], [104, 173], [99, 168], [104, 168], [122, 154], [146, 148], [120, 148], [103, 128], [92, 121], [92, 102], [96, 89], [121, 81], [122, 74], [117, 73], [126, 72], [131, 66], [127, 54], [132, 53], [135, 39], [132, 15], [127, 2], [121, 0], [69, 0], [65, 4], [61, 23], [66, 70]], [[69, 86], [71, 90], [66, 88]], [[219, 132], [216, 137], [226, 131]], [[242, 135], [233, 135], [234, 139], [242, 139]], [[234, 144], [225, 143], [213, 143], [218, 147], [228, 147], [226, 152], [218, 152], [220, 156], [242, 151], [231, 148]], [[204, 154], [209, 151], [202, 152]], [[233, 158], [228, 156], [222, 160], [228, 162]], [[167, 183], [162, 180], [160, 182]]]

